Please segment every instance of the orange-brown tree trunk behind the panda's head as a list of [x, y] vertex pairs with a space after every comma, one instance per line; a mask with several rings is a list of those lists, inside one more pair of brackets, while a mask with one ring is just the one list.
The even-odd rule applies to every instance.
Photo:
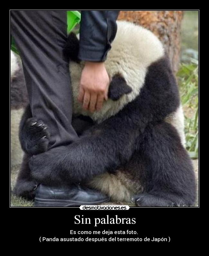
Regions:
[[180, 34], [183, 11], [121, 11], [118, 20], [127, 20], [151, 30], [165, 46], [176, 73], [180, 61]]

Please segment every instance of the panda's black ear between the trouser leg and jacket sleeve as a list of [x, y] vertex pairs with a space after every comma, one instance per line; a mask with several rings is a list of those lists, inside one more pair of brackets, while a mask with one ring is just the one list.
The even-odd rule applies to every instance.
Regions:
[[79, 51], [79, 40], [75, 33], [71, 32], [68, 35], [66, 45], [63, 49], [64, 56], [68, 61], [75, 61], [77, 63], [80, 62], [78, 59], [78, 51]]

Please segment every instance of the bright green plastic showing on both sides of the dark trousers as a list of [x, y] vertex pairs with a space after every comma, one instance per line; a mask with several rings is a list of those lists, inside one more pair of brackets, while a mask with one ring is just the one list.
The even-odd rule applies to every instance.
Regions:
[[[67, 32], [68, 34], [73, 30], [73, 28], [80, 23], [81, 20], [81, 14], [78, 11], [67, 11]], [[11, 39], [11, 50], [14, 51], [15, 53], [19, 54], [16, 46], [15, 46], [15, 41], [14, 38], [12, 37]]]

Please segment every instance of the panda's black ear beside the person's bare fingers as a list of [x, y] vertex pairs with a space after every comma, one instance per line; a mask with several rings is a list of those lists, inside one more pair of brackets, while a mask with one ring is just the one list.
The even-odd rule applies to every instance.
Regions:
[[118, 100], [124, 94], [132, 92], [132, 88], [127, 85], [124, 77], [121, 74], [116, 74], [110, 82], [108, 98]]

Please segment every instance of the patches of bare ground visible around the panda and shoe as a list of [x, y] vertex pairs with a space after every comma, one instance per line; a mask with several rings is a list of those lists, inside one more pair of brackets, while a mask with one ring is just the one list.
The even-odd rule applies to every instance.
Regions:
[[[197, 198], [194, 206], [197, 207], [198, 206], [198, 159], [192, 160], [192, 162], [195, 169], [196, 185], [197, 185]], [[16, 180], [19, 168], [20, 166], [17, 166], [11, 170], [11, 190], [14, 188], [14, 184], [15, 184], [15, 180]], [[129, 205], [130, 207], [135, 206], [134, 204], [127, 203], [127, 202], [107, 202], [107, 203], [104, 203], [104, 205]], [[32, 207], [32, 206], [33, 206], [32, 201], [23, 200], [22, 198], [16, 197], [11, 193], [11, 207]]]

